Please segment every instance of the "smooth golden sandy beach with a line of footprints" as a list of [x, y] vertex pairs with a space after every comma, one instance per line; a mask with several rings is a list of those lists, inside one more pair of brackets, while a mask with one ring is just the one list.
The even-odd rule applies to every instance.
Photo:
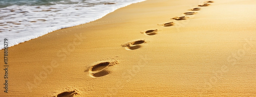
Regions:
[[0, 96], [256, 96], [256, 1], [207, 2], [147, 0], [10, 47]]

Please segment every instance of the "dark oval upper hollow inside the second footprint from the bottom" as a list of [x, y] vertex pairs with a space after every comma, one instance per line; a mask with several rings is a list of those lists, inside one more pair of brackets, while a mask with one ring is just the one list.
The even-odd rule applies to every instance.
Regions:
[[94, 65], [90, 71], [92, 74], [96, 74], [102, 70], [104, 70], [106, 67], [108, 67], [110, 65], [110, 62], [107, 61], [107, 62], [101, 62], [101, 63], [98, 63], [96, 65]]

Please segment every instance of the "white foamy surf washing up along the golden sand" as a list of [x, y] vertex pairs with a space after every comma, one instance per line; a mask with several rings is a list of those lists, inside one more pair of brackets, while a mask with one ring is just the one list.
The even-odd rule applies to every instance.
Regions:
[[[0, 10], [0, 49], [4, 39], [8, 47], [38, 38], [61, 28], [88, 23], [119, 8], [146, 0], [112, 0], [104, 5], [104, 0], [72, 0], [78, 4], [58, 3], [52, 6], [10, 6]], [[91, 5], [93, 4], [93, 5]]]

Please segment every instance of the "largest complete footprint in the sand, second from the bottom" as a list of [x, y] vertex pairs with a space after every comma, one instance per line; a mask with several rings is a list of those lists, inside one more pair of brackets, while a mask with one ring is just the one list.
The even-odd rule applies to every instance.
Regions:
[[[105, 61], [105, 62], [100, 62], [98, 64], [95, 64], [89, 69], [89, 73], [91, 77], [102, 77], [110, 74], [110, 71], [106, 70], [109, 66], [113, 66], [114, 64], [117, 64], [118, 61]], [[86, 72], [86, 71], [85, 71]]]

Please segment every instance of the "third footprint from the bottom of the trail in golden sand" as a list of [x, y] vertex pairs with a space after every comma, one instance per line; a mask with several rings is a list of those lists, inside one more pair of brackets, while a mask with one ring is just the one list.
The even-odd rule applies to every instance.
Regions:
[[127, 42], [123, 45], [121, 45], [122, 47], [125, 47], [126, 50], [136, 50], [141, 48], [140, 44], [146, 43], [145, 40], [138, 40], [138, 41], [134, 41], [134, 42]]

